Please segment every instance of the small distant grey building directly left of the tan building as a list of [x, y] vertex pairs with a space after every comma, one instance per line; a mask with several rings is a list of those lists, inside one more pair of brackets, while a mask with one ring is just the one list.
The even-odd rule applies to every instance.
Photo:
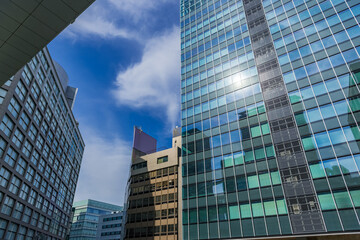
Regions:
[[123, 211], [116, 211], [99, 217], [98, 240], [121, 240], [123, 229]]

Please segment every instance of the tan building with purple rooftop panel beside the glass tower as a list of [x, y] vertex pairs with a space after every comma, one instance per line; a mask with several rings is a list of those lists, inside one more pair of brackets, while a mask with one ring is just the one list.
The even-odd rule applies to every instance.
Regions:
[[181, 224], [181, 210], [178, 211], [181, 209], [178, 188], [181, 186], [181, 136], [174, 134], [172, 148], [143, 150], [135, 146], [136, 141], [145, 139], [155, 141], [156, 145], [156, 140], [138, 128], [135, 131], [125, 239], [181, 239], [178, 232], [178, 224]]

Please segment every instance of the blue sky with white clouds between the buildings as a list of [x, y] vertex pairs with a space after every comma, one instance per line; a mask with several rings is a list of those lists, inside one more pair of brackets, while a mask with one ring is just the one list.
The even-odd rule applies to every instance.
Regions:
[[79, 88], [86, 148], [75, 201], [122, 204], [133, 126], [171, 144], [179, 125], [179, 0], [97, 0], [48, 46]]

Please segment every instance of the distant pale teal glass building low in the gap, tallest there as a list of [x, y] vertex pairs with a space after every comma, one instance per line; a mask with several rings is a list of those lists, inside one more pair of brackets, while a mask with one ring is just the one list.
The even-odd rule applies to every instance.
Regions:
[[99, 202], [91, 199], [75, 202], [72, 208], [71, 229], [67, 239], [103, 239], [97, 237], [98, 225], [100, 224], [101, 216], [108, 216], [113, 212], [122, 210], [123, 207], [121, 206]]

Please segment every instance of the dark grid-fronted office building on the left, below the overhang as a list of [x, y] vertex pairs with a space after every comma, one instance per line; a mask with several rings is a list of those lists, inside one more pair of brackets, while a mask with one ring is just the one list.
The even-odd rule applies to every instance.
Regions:
[[45, 48], [0, 88], [0, 239], [63, 239], [84, 141]]

